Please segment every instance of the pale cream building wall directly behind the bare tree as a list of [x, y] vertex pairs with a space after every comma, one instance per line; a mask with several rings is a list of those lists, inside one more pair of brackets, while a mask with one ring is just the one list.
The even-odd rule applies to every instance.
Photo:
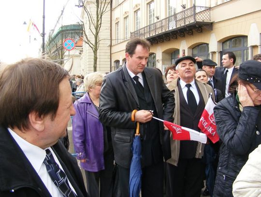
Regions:
[[[97, 72], [104, 74], [106, 72], [110, 72], [110, 35], [111, 35], [110, 7], [111, 6], [109, 0], [100, 0], [99, 3], [101, 3], [100, 4], [101, 9], [104, 3], [105, 6], [108, 4], [104, 14], [102, 16], [98, 15], [99, 17], [102, 17], [102, 26], [98, 36], [99, 48], [97, 53]], [[82, 15], [81, 15], [81, 18], [85, 25], [85, 33], [86, 33], [86, 35], [83, 36], [83, 40], [87, 41], [88, 38], [90, 43], [94, 44], [95, 27], [93, 23], [96, 22], [96, 7], [97, 7], [96, 0], [86, 0], [85, 7], [88, 10], [88, 14], [83, 8]], [[81, 61], [82, 75], [85, 76], [86, 74], [93, 72], [94, 70], [93, 61], [94, 61], [93, 49], [89, 45], [87, 45], [87, 43], [84, 41], [82, 61]]]

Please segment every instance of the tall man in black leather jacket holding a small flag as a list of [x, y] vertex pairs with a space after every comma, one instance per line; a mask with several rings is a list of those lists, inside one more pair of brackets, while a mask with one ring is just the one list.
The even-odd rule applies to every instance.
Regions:
[[[131, 121], [133, 109], [138, 110], [135, 121], [142, 123], [143, 197], [163, 196], [163, 155], [165, 160], [170, 158], [170, 142], [162, 142], [162, 135], [169, 137], [169, 131], [164, 131], [163, 124], [152, 119], [149, 110], [153, 110], [156, 117], [173, 121], [174, 96], [165, 86], [160, 72], [146, 67], [149, 48], [148, 41], [131, 39], [126, 45], [126, 62], [115, 72], [106, 75], [102, 83], [100, 120], [111, 127], [123, 197], [129, 196], [131, 146], [136, 128], [136, 123]], [[163, 144], [167, 146], [166, 149]]]

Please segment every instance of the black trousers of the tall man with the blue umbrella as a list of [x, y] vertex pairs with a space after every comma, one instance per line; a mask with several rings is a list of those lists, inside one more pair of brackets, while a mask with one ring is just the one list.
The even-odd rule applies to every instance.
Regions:
[[[130, 169], [118, 166], [119, 185], [122, 197], [129, 197]], [[142, 197], [163, 197], [162, 162], [142, 168]]]

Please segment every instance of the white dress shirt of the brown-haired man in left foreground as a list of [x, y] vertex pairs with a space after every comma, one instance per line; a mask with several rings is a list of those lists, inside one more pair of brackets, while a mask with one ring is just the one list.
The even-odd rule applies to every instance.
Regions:
[[[22, 149], [22, 151], [26, 155], [27, 159], [29, 160], [29, 162], [31, 163], [32, 167], [35, 169], [41, 180], [43, 181], [43, 184], [46, 186], [52, 197], [63, 197], [63, 195], [59, 192], [58, 188], [55, 186], [54, 182], [49, 176], [45, 164], [43, 163], [43, 160], [46, 155], [45, 150], [41, 149], [38, 146], [30, 144], [28, 141], [18, 136], [12, 129], [8, 128], [8, 131], [13, 136], [18, 146]], [[52, 152], [56, 163], [59, 165], [61, 170], [63, 170], [53, 150], [50, 147], [48, 147], [47, 149], [49, 149]], [[73, 192], [76, 194], [71, 182], [69, 180], [68, 182]]]

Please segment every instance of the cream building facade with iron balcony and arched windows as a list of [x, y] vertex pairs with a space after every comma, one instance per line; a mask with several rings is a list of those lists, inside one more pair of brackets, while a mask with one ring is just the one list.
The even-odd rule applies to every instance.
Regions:
[[185, 55], [212, 59], [233, 51], [236, 66], [261, 53], [261, 0], [115, 0], [112, 70], [125, 61], [131, 37], [152, 43], [147, 66], [164, 72]]

